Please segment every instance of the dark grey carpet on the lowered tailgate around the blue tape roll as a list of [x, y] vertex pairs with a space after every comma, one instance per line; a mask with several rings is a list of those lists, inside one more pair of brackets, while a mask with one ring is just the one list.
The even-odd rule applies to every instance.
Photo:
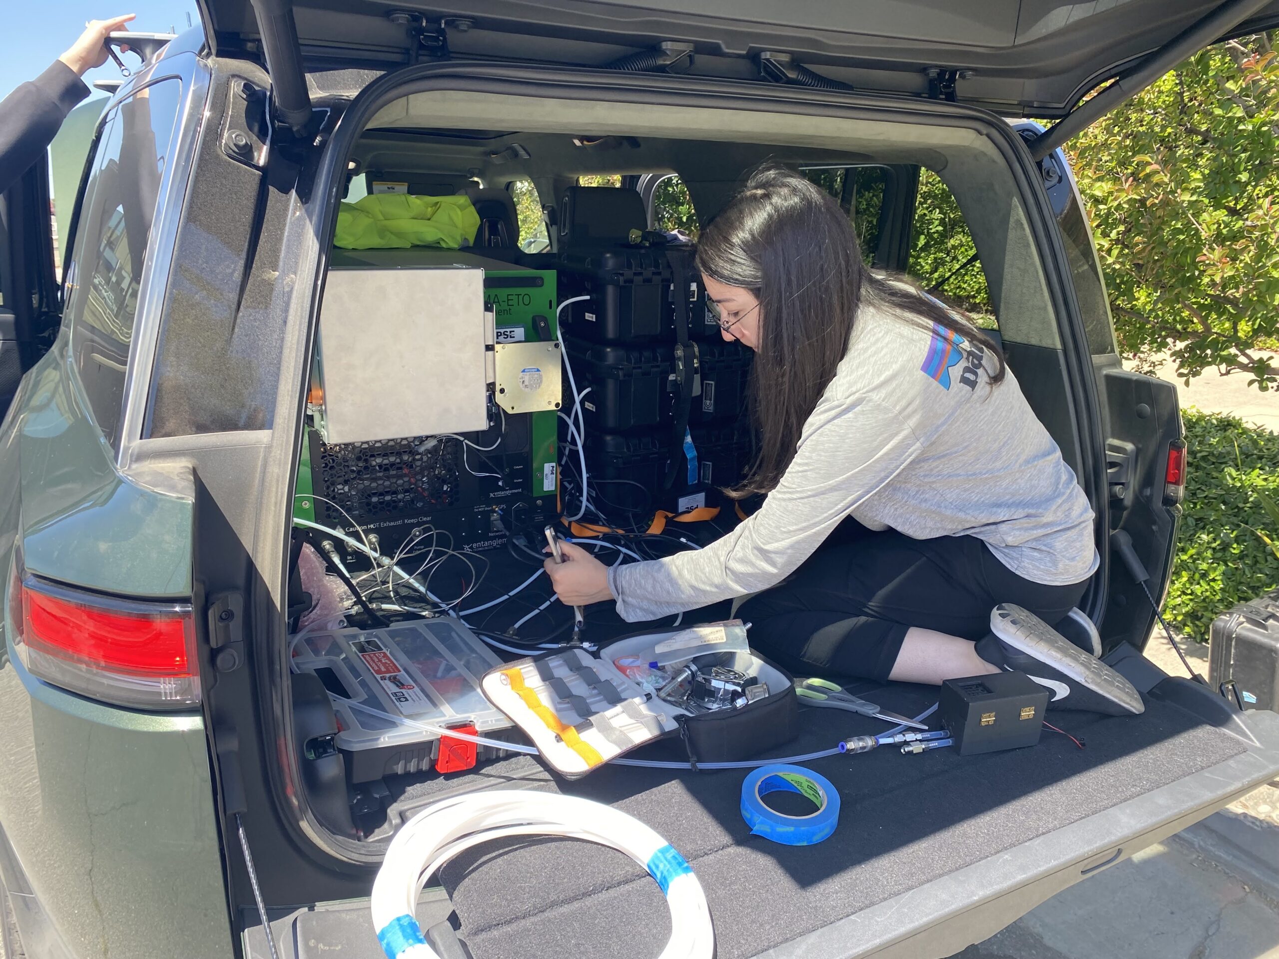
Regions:
[[[854, 692], [866, 692], [870, 687]], [[875, 692], [880, 705], [918, 715], [923, 687]], [[779, 754], [801, 754], [885, 729], [829, 710], [803, 710], [803, 734]], [[719, 959], [744, 959], [1036, 836], [1243, 752], [1234, 737], [1164, 702], [1137, 717], [1051, 713], [1085, 742], [1049, 730], [1037, 747], [961, 757], [953, 749], [902, 756], [897, 747], [815, 760], [836, 786], [839, 827], [813, 846], [752, 836], [739, 812], [744, 771], [674, 772], [606, 767], [564, 781], [530, 757], [404, 784], [417, 804], [441, 789], [533, 785], [616, 806], [646, 822], [692, 864], [715, 919]], [[637, 758], [678, 758], [661, 743]], [[656, 956], [669, 936], [656, 884], [620, 853], [572, 840], [490, 844], [444, 871], [444, 886], [476, 959], [531, 955]]]

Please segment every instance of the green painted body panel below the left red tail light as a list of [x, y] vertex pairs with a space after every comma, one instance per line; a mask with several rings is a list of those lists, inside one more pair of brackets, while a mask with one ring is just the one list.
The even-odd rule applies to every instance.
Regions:
[[0, 730], [0, 878], [33, 900], [15, 908], [28, 955], [43, 959], [43, 942], [70, 956], [230, 955], [198, 713], [91, 702], [32, 676], [9, 646]]

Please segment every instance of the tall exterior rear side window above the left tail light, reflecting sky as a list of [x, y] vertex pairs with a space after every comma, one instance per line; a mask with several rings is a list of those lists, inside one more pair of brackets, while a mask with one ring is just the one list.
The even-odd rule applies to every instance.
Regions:
[[113, 446], [119, 442], [142, 267], [180, 102], [180, 81], [166, 79], [138, 91], [102, 120], [64, 270], [72, 358]]

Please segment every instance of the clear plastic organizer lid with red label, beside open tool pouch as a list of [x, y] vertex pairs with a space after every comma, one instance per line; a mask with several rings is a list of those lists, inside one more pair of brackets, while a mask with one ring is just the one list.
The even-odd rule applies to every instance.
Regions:
[[473, 722], [480, 733], [510, 726], [480, 692], [480, 679], [501, 661], [453, 619], [304, 633], [294, 644], [293, 662], [320, 676], [329, 690], [343, 749], [440, 738], [413, 722]]

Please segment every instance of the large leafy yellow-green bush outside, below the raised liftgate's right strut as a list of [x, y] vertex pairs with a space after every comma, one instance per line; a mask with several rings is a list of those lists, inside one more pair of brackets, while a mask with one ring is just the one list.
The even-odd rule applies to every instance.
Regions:
[[1273, 35], [1200, 51], [1068, 146], [1120, 349], [1184, 377], [1279, 364], [1279, 54]]

